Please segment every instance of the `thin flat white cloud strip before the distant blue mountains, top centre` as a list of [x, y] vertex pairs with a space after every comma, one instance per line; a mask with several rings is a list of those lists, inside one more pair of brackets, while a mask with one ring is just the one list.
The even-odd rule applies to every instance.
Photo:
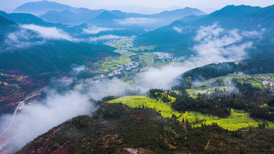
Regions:
[[122, 20], [116, 20], [116, 23], [121, 25], [146, 25], [157, 22], [158, 19], [154, 18], [125, 18]]

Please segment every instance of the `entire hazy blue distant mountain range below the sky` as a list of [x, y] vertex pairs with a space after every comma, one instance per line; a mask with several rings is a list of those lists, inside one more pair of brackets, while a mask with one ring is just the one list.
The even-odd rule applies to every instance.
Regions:
[[[107, 13], [106, 11], [108, 11], [109, 13]], [[138, 25], [141, 26], [143, 29], [159, 28], [189, 15], [205, 15], [204, 12], [192, 8], [184, 8], [174, 11], [164, 11], [152, 15], [145, 15], [139, 13], [125, 13], [118, 10], [109, 11], [103, 9], [89, 10], [86, 8], [73, 8], [67, 5], [48, 1], [26, 3], [16, 8], [14, 12], [30, 13], [33, 15], [37, 15], [41, 19], [52, 23], [69, 25], [91, 23], [96, 26], [100, 25], [105, 27], [135, 25], [133, 26], [134, 28], [136, 27], [136, 25]], [[101, 22], [102, 20], [98, 18], [104, 19], [104, 22]], [[140, 30], [138, 30], [138, 32], [140, 32]]]

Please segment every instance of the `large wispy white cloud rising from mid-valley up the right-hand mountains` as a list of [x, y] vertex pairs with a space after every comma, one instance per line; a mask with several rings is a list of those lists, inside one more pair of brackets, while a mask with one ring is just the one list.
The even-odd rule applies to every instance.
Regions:
[[[252, 36], [260, 35], [252, 32]], [[245, 59], [247, 50], [252, 48], [252, 42], [245, 42], [244, 38], [251, 35], [243, 34], [237, 29], [227, 30], [213, 24], [200, 27], [193, 40], [196, 42], [192, 50], [196, 55], [183, 63], [171, 64], [161, 68], [150, 68], [136, 76], [140, 79], [139, 85], [144, 89], [169, 89], [176, 86], [178, 76], [190, 69], [211, 63], [233, 62]]]

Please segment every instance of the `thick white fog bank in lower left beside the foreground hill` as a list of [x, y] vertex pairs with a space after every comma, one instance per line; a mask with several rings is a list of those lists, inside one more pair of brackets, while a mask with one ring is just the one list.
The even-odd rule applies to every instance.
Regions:
[[[90, 114], [93, 110], [94, 107], [87, 95], [78, 91], [67, 92], [64, 95], [51, 91], [45, 100], [25, 105], [21, 112], [16, 114], [13, 126], [5, 134], [9, 136], [7, 146], [20, 149], [27, 142], [54, 126], [77, 115]], [[2, 117], [1, 132], [12, 120], [13, 115]]]

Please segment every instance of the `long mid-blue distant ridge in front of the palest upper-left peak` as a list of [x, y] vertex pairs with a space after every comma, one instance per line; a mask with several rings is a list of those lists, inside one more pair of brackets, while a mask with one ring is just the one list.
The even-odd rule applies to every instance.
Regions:
[[[168, 25], [175, 20], [183, 18], [189, 15], [205, 15], [204, 12], [198, 9], [185, 8], [178, 9], [174, 11], [165, 11], [158, 14], [146, 15], [139, 13], [126, 13], [119, 10], [89, 10], [86, 8], [78, 8], [74, 10], [67, 11], [49, 11], [39, 17], [45, 21], [52, 23], [62, 23], [62, 24], [71, 24], [71, 25], [79, 25], [82, 23], [90, 23], [93, 18], [99, 16], [98, 18], [109, 18], [113, 16], [113, 18], [118, 19], [128, 19], [130, 20], [129, 24], [138, 24], [142, 26], [143, 29], [155, 29], [164, 25]], [[107, 12], [105, 12], [107, 11]], [[104, 13], [105, 12], [105, 13]], [[73, 14], [74, 13], [74, 14]], [[104, 16], [104, 14], [106, 16]], [[107, 15], [108, 14], [108, 15]], [[111, 15], [110, 15], [111, 14]], [[107, 19], [106, 19], [107, 20]], [[145, 20], [145, 21], [142, 21]]]

